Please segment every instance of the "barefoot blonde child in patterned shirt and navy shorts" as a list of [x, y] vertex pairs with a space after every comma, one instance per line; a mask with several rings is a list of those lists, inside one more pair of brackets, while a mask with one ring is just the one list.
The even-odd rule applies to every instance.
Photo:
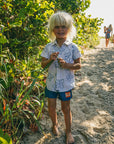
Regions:
[[72, 114], [70, 99], [72, 89], [75, 86], [74, 70], [81, 68], [81, 54], [77, 46], [72, 42], [76, 35], [72, 16], [59, 11], [49, 19], [49, 38], [51, 43], [44, 48], [42, 67], [48, 68], [45, 95], [48, 97], [48, 111], [53, 124], [53, 133], [58, 135], [58, 121], [56, 113], [56, 99], [61, 100], [61, 109], [66, 125], [66, 144], [73, 144], [71, 134]]

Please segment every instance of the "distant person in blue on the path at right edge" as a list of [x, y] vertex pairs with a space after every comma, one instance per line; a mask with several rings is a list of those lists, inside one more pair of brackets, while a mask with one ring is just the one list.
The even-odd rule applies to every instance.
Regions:
[[112, 25], [110, 24], [108, 28], [104, 26], [104, 33], [105, 33], [105, 39], [106, 39], [106, 47], [108, 47], [109, 39], [110, 39], [110, 33], [112, 32]]

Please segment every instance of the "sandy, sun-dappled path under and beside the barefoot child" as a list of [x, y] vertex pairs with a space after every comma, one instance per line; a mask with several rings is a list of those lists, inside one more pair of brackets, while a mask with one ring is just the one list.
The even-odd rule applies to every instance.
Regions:
[[[84, 51], [82, 68], [76, 73], [76, 88], [71, 100], [75, 144], [114, 144], [114, 47], [110, 44], [105, 48], [104, 44], [102, 39], [95, 49]], [[64, 117], [60, 109], [58, 100], [60, 136], [53, 136], [45, 111], [41, 122], [45, 135], [30, 132], [20, 143], [65, 144]]]

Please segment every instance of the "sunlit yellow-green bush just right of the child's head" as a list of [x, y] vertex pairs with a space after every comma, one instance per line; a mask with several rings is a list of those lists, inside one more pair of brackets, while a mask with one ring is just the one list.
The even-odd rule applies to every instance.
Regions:
[[91, 18], [91, 15], [86, 16], [85, 13], [74, 14], [73, 17], [77, 28], [77, 37], [74, 42], [85, 48], [98, 45], [98, 32], [103, 19]]

